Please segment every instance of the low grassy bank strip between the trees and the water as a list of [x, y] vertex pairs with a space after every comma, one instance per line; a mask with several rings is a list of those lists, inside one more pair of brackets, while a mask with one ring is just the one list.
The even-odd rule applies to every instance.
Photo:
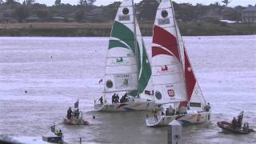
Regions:
[[[112, 23], [33, 22], [0, 24], [0, 36], [106, 37]], [[182, 35], [246, 35], [256, 34], [256, 24], [179, 22]], [[140, 24], [142, 35], [152, 35], [152, 24]]]

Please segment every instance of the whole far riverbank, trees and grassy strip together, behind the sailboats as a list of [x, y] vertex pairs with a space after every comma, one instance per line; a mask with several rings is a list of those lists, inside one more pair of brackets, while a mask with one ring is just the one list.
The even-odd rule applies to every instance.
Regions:
[[[55, 0], [54, 6], [35, 0], [0, 0], [0, 36], [109, 36], [112, 22], [121, 2], [108, 6], [94, 6], [96, 0], [78, 0], [78, 5]], [[20, 3], [22, 2], [22, 3]], [[255, 24], [242, 21], [245, 7], [227, 7], [214, 2], [210, 6], [174, 2], [175, 16], [182, 35], [256, 34]], [[142, 0], [135, 10], [142, 34], [152, 35], [157, 0]], [[220, 19], [237, 21], [234, 24]]]

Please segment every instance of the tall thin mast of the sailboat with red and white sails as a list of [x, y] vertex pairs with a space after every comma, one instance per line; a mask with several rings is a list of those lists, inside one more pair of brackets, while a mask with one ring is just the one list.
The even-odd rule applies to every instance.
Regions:
[[[172, 1], [170, 1], [170, 5], [172, 7], [171, 10], [172, 10], [173, 16], [174, 16], [174, 26], [175, 26], [174, 30], [175, 30], [175, 33], [176, 33], [176, 39], [177, 39], [177, 44], [178, 44], [178, 54], [179, 54], [179, 58], [181, 58], [182, 73], [183, 73], [182, 76], [183, 76], [184, 83], [185, 83], [185, 88], [186, 88], [186, 78], [185, 78], [185, 72], [183, 70], [182, 54], [181, 54], [181, 51], [180, 51], [180, 45], [179, 45], [179, 39], [178, 39], [177, 22], [176, 22], [176, 18], [175, 18], [174, 5], [173, 5]], [[187, 89], [186, 89], [186, 98], [188, 98]], [[186, 101], [188, 101], [188, 99]]]

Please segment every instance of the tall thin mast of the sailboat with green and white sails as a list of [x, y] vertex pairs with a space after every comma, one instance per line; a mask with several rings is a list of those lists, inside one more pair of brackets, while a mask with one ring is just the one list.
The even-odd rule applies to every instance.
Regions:
[[[134, 0], [132, 0], [132, 6], [133, 6], [133, 17], [134, 17], [134, 53], [135, 53], [135, 57], [136, 57], [136, 62], [137, 62], [137, 82], [139, 80], [139, 73], [138, 73], [138, 70], [139, 70], [139, 67], [138, 67], [138, 46], [137, 46], [137, 30], [136, 30], [136, 22], [135, 22], [135, 6], [134, 6]], [[139, 82], [138, 82], [138, 86], [137, 86], [137, 90], [139, 90]], [[137, 92], [138, 94], [138, 97], [139, 97], [139, 92]]]

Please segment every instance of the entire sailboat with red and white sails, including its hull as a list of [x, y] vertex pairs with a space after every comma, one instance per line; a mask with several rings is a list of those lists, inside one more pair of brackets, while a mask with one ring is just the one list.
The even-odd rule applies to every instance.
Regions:
[[154, 102], [162, 110], [147, 116], [147, 126], [166, 126], [174, 119], [182, 124], [210, 120], [210, 104], [194, 76], [170, 0], [158, 6], [152, 44]]

